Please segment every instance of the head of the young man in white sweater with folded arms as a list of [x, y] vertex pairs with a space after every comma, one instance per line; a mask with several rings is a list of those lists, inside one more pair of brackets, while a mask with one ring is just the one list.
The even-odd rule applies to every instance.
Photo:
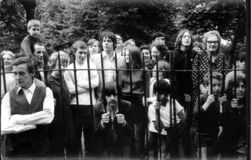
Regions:
[[76, 62], [78, 64], [83, 64], [88, 54], [88, 48], [87, 48], [86, 43], [78, 40], [73, 43], [72, 49], [76, 57]]

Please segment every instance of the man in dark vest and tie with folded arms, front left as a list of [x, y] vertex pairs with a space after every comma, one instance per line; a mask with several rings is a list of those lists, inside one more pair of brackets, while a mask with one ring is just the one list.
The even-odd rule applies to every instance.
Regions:
[[34, 62], [30, 58], [14, 60], [13, 72], [16, 86], [2, 99], [4, 156], [45, 157], [49, 151], [46, 124], [54, 118], [53, 93], [41, 83], [35, 83]]

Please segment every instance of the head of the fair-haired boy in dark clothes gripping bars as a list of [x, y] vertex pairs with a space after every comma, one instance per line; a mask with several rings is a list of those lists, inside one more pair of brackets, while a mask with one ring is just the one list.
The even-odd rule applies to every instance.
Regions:
[[[210, 77], [212, 75], [212, 77]], [[219, 95], [222, 89], [222, 74], [219, 72], [207, 73], [204, 76], [204, 82], [208, 93]], [[212, 79], [212, 82], [211, 82]], [[212, 91], [212, 92], [211, 92]]]

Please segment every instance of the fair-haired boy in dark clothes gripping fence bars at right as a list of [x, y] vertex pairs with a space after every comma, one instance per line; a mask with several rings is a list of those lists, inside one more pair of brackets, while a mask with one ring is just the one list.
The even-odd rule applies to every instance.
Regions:
[[226, 95], [221, 96], [222, 74], [206, 74], [204, 81], [207, 93], [200, 95], [194, 108], [195, 144], [198, 156], [207, 160], [217, 157], [218, 138], [222, 131], [222, 103], [226, 101]]

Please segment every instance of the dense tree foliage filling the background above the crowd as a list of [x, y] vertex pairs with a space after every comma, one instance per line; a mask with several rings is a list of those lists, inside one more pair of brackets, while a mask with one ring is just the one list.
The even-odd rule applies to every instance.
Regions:
[[2, 0], [0, 47], [18, 51], [33, 17], [41, 20], [42, 39], [50, 50], [65, 42], [98, 38], [104, 30], [124, 40], [134, 38], [137, 45], [150, 43], [151, 34], [161, 31], [173, 46], [182, 28], [195, 34], [217, 29], [224, 38], [242, 41], [245, 13], [244, 0]]

